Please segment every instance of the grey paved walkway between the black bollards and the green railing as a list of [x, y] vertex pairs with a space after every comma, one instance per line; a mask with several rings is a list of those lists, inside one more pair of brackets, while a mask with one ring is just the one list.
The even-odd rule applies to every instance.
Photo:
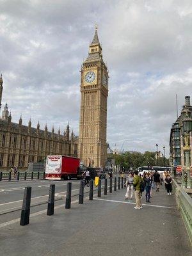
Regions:
[[[144, 193], [145, 194], [145, 193]], [[151, 204], [134, 209], [125, 189], [71, 209], [58, 207], [54, 216], [39, 214], [28, 226], [0, 229], [1, 255], [65, 256], [191, 256], [191, 246], [174, 195], [164, 186], [153, 189]]]

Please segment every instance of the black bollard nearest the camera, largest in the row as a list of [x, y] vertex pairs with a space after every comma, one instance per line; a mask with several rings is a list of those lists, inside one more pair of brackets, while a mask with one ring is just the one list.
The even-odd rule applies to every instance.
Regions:
[[20, 214], [20, 225], [21, 226], [29, 224], [30, 205], [31, 205], [31, 187], [26, 187], [24, 190], [22, 210], [21, 210], [21, 214]]

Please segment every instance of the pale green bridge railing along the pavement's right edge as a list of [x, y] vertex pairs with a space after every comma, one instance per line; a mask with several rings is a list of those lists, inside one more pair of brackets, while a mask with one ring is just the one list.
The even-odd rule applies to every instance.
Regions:
[[177, 184], [173, 179], [173, 189], [175, 191], [175, 199], [177, 202], [177, 209], [180, 211], [186, 229], [188, 231], [189, 239], [192, 244], [192, 198], [186, 191]]

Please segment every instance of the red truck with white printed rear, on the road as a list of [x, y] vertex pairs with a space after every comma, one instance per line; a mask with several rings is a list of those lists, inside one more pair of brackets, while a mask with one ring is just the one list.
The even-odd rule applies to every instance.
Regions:
[[80, 159], [70, 156], [47, 156], [45, 179], [61, 180], [80, 178]]

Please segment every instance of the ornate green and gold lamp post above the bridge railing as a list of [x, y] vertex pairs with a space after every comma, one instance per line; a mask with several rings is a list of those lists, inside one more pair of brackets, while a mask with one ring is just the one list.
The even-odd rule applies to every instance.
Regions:
[[188, 182], [187, 182], [187, 188], [192, 188], [191, 185], [191, 175], [190, 175], [190, 132], [192, 131], [192, 119], [189, 116], [189, 112], [186, 111], [186, 116], [182, 120], [183, 128], [184, 128], [184, 141], [185, 146], [183, 147], [184, 154], [185, 154], [185, 165], [186, 165], [186, 171], [188, 173]]

